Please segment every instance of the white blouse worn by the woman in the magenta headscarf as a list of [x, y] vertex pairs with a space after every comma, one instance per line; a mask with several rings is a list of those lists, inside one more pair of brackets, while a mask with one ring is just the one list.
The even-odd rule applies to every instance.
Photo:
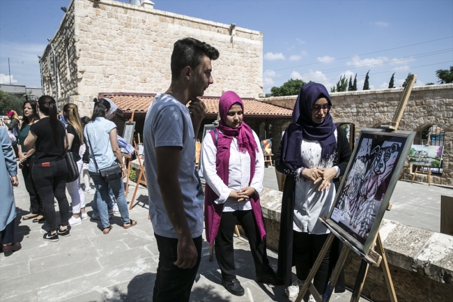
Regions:
[[[259, 139], [253, 130], [252, 132], [259, 152], [256, 153], [256, 161], [254, 163], [256, 166], [255, 174], [250, 186], [254, 188], [256, 192], [260, 193], [263, 190], [264, 156], [263, 151], [261, 151]], [[217, 147], [210, 134], [207, 134], [204, 137], [201, 153], [201, 169], [204, 179], [210, 188], [213, 189], [215, 194], [219, 196], [214, 202], [216, 204], [224, 204], [224, 212], [251, 210], [252, 205], [249, 200], [238, 202], [236, 199], [229, 197], [231, 191], [248, 187], [250, 181], [250, 156], [248, 152], [239, 152], [238, 139], [233, 137], [231, 140], [228, 186], [225, 185], [222, 179], [217, 175], [217, 170], [215, 169]]]

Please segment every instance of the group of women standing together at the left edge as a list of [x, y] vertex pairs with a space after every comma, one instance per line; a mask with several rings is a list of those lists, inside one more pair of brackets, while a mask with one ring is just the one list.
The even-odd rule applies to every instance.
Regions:
[[[30, 213], [23, 216], [22, 220], [45, 222], [47, 232], [43, 239], [46, 241], [59, 241], [59, 236], [70, 236], [71, 226], [79, 225], [82, 220], [89, 218], [85, 211], [85, 192], [95, 193], [92, 206], [101, 217], [104, 234], [112, 229], [109, 211], [112, 211], [114, 204], [109, 189], [118, 202], [123, 227], [127, 229], [137, 224], [129, 218], [122, 179], [107, 183], [99, 174], [99, 169], [103, 167], [123, 166], [116, 142], [116, 126], [106, 119], [109, 108], [107, 100], [95, 99], [91, 119], [80, 119], [77, 105], [66, 104], [63, 107], [66, 123], [63, 123], [58, 118], [54, 98], [41, 96], [38, 102], [26, 100], [22, 121], [15, 112], [8, 112], [11, 121], [4, 126], [8, 127], [9, 135], [6, 128], [0, 125], [0, 189], [2, 194], [6, 192], [6, 199], [0, 202], [0, 230], [5, 255], [21, 248], [20, 243], [14, 242], [16, 210], [13, 186], [18, 186], [17, 167], [22, 169], [24, 185], [30, 197]], [[19, 128], [16, 156], [11, 137], [11, 134], [16, 136], [11, 130], [15, 128]], [[92, 145], [90, 141], [96, 144]], [[67, 153], [72, 153], [72, 156], [68, 157]], [[82, 157], [86, 158], [86, 163]], [[73, 158], [77, 165], [79, 176], [75, 181], [67, 181], [67, 158]], [[93, 179], [95, 191], [91, 191], [86, 170], [89, 170], [89, 176]], [[125, 169], [122, 172], [122, 176], [125, 176]], [[82, 189], [81, 179], [84, 180], [85, 190]], [[71, 197], [72, 210], [66, 189]], [[55, 199], [59, 206], [59, 218], [56, 217]], [[93, 220], [96, 218], [93, 217]]]

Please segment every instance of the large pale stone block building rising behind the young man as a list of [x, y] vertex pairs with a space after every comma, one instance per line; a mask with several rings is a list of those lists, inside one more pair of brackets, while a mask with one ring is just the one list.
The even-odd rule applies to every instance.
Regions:
[[43, 92], [58, 96], [60, 106], [75, 103], [84, 115], [102, 91], [164, 91], [174, 43], [192, 37], [220, 52], [206, 96], [227, 90], [247, 98], [262, 94], [263, 33], [144, 4], [72, 0], [40, 58]]

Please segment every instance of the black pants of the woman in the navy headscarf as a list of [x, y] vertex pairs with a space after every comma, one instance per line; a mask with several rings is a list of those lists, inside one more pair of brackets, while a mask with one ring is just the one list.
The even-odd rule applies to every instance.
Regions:
[[[316, 235], [293, 231], [293, 263], [299, 280], [306, 280], [310, 269], [321, 252], [328, 234]], [[321, 266], [314, 275], [313, 285], [319, 294], [324, 294], [328, 282], [330, 248], [325, 253]]]

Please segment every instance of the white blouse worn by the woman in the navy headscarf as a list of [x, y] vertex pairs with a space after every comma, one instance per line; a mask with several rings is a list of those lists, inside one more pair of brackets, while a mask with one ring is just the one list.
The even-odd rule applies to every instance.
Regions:
[[[337, 130], [335, 130], [335, 139], [337, 139]], [[302, 160], [306, 167], [314, 169], [316, 167], [330, 168], [333, 166], [335, 156], [321, 163], [321, 144], [315, 140], [302, 138]], [[339, 167], [337, 175], [339, 176]], [[294, 198], [294, 220], [293, 230], [296, 232], [308, 232], [309, 234], [328, 234], [330, 231], [324, 227], [318, 218], [327, 215], [330, 207], [335, 199], [335, 186], [330, 183], [330, 190], [318, 191], [322, 181], [313, 183], [311, 179], [300, 176], [295, 182], [295, 198]]]

